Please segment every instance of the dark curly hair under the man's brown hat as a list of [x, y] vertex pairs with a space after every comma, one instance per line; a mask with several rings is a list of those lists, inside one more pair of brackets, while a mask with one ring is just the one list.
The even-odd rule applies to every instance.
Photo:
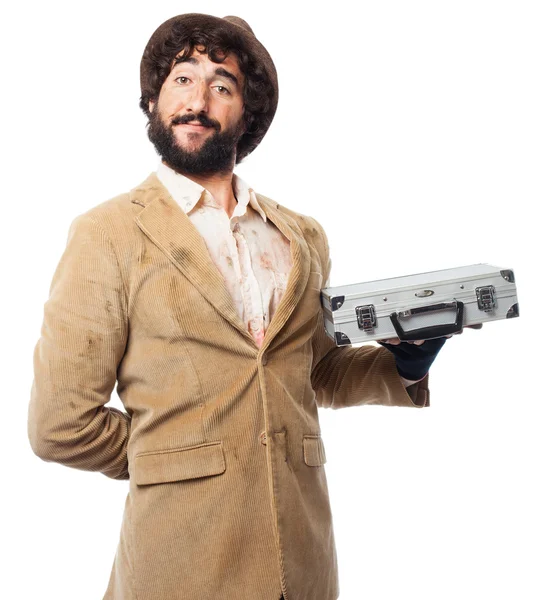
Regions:
[[142, 91], [139, 106], [149, 117], [149, 100], [155, 101], [158, 98], [160, 88], [170, 74], [177, 54], [186, 50], [181, 55], [181, 59], [189, 58], [197, 46], [203, 46], [203, 50], [198, 49], [198, 51], [208, 54], [210, 60], [216, 63], [223, 62], [228, 53], [233, 52], [244, 75], [242, 97], [246, 131], [237, 143], [235, 163], [239, 164], [267, 132], [273, 118], [270, 107], [271, 99], [274, 97], [274, 88], [268, 74], [264, 67], [247, 52], [239, 34], [228, 32], [218, 25], [204, 27], [202, 30], [200, 27], [190, 29], [183, 23], [175, 23], [172, 34], [166, 40], [146, 51], [144, 60], [149, 60], [154, 67], [149, 77], [149, 85]]

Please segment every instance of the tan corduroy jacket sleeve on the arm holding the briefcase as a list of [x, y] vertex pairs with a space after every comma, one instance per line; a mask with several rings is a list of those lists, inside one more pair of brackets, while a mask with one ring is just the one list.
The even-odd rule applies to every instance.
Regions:
[[[312, 217], [311, 217], [312, 218]], [[328, 287], [332, 261], [326, 233], [319, 247], [323, 264], [323, 284]], [[382, 346], [337, 346], [324, 329], [321, 303], [312, 339], [311, 384], [316, 402], [323, 408], [344, 408], [362, 404], [384, 406], [429, 406], [429, 374], [405, 387], [395, 365], [394, 355]]]

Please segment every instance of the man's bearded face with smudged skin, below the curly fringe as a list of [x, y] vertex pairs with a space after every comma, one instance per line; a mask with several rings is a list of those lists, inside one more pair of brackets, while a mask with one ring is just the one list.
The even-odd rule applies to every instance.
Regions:
[[149, 102], [147, 130], [170, 167], [192, 175], [233, 170], [237, 142], [244, 133], [243, 85], [233, 53], [214, 63], [194, 50], [186, 61], [174, 64], [158, 101]]

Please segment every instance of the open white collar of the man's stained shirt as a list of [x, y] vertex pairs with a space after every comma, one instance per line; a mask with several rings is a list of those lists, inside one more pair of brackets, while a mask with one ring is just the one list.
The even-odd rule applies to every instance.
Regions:
[[[210, 203], [211, 200], [214, 202], [212, 195], [206, 188], [185, 175], [177, 173], [162, 161], [160, 161], [157, 168], [157, 177], [166, 187], [170, 196], [187, 214], [193, 210], [202, 197], [205, 201], [208, 201], [208, 203]], [[254, 190], [236, 173], [233, 173], [231, 181], [235, 197], [237, 198], [237, 207], [233, 214], [236, 216], [244, 214], [247, 205], [250, 204], [250, 206], [261, 215], [263, 221], [266, 223], [267, 216], [265, 211], [259, 205]]]

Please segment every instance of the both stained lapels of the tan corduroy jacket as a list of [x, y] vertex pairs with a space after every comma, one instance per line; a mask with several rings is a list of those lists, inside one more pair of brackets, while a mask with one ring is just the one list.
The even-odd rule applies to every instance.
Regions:
[[[152, 172], [130, 191], [131, 202], [143, 209], [134, 217], [136, 224], [170, 261], [196, 286], [214, 308], [227, 319], [256, 350], [258, 349], [226, 288], [224, 279], [213, 263], [205, 241], [188, 215], [170, 196]], [[274, 225], [290, 241], [293, 266], [286, 292], [266, 331], [262, 349], [285, 325], [298, 304], [309, 276], [310, 254], [299, 227], [269, 198], [257, 194], [259, 203]]]

